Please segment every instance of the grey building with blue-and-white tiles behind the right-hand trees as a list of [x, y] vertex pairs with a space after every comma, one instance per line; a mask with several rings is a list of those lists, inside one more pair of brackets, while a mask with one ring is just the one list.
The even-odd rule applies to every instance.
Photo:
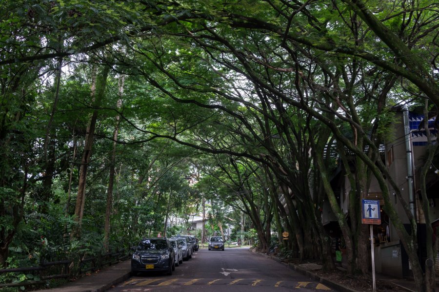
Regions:
[[[380, 147], [381, 159], [385, 161], [390, 176], [396, 181], [402, 198], [409, 204], [410, 211], [416, 218], [419, 259], [421, 263], [424, 263], [426, 260], [426, 218], [421, 208], [422, 199], [419, 184], [419, 172], [425, 164], [427, 150], [427, 138], [423, 129], [423, 123], [422, 112], [397, 108], [395, 122], [391, 125], [393, 135], [390, 135], [387, 141], [384, 141], [383, 146]], [[432, 140], [436, 143], [437, 130], [435, 118], [430, 119], [428, 125], [431, 130]], [[439, 159], [437, 158], [436, 161], [438, 165], [435, 165], [435, 161], [433, 161], [426, 178], [427, 197], [430, 206], [430, 218], [427, 221], [433, 222], [432, 225], [434, 227], [439, 225]], [[354, 173], [356, 171], [354, 167], [351, 167], [351, 170]], [[343, 167], [339, 167], [334, 173], [331, 184], [339, 199], [340, 208], [348, 217], [349, 196], [347, 194], [351, 188]], [[410, 229], [408, 217], [402, 208], [401, 202], [399, 202], [395, 195], [395, 189], [389, 183], [388, 188], [390, 189], [392, 204], [397, 210], [402, 223], [406, 229]], [[384, 205], [382, 192], [375, 178], [372, 178], [364, 198], [379, 200], [381, 207]], [[389, 217], [382, 208], [380, 209], [381, 225], [373, 226], [376, 271], [400, 278], [409, 277], [411, 276], [411, 271], [407, 254]], [[330, 234], [339, 232], [339, 230], [337, 231], [337, 220], [327, 200], [325, 200], [325, 205], [322, 208], [322, 223]]]

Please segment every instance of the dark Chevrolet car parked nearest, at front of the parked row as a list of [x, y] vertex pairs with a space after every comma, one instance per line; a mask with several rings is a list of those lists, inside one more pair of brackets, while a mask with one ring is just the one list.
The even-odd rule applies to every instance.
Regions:
[[175, 270], [174, 248], [165, 237], [143, 238], [133, 250], [131, 274], [165, 271], [172, 275]]

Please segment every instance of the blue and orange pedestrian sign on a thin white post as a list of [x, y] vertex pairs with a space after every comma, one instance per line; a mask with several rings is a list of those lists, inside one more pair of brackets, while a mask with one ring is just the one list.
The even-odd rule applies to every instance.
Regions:
[[379, 210], [379, 201], [377, 200], [361, 200], [361, 223], [370, 226], [370, 250], [372, 252], [372, 280], [374, 292], [377, 291], [375, 282], [375, 252], [374, 252], [374, 228], [373, 225], [381, 224], [381, 212]]

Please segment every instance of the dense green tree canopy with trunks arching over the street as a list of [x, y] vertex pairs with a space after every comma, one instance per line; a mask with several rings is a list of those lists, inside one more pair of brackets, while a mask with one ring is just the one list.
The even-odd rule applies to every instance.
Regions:
[[[300, 260], [332, 269], [327, 200], [348, 272], [367, 272], [359, 202], [373, 177], [418, 287], [431, 289], [434, 272], [424, 275], [416, 231], [403, 226], [387, 182], [411, 230], [415, 218], [379, 147], [392, 135], [394, 106], [439, 105], [438, 8], [427, 0], [5, 1], [0, 264], [24, 260], [11, 248], [37, 252], [23, 234], [50, 237], [54, 249], [128, 246], [163, 231], [171, 213], [189, 218], [207, 202], [212, 231], [234, 222], [243, 234], [245, 215], [262, 250], [273, 231]], [[352, 186], [349, 218], [331, 186], [339, 163]], [[23, 225], [43, 218], [56, 229]], [[283, 242], [283, 230], [296, 236]]]

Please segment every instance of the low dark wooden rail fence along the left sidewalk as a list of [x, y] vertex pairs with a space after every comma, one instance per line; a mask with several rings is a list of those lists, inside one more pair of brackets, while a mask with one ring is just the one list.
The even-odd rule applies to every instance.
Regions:
[[[71, 278], [75, 275], [82, 275], [88, 271], [97, 271], [105, 266], [113, 265], [119, 261], [126, 260], [130, 257], [130, 250], [117, 250], [115, 252], [107, 252], [99, 256], [91, 256], [87, 258], [81, 258], [77, 261], [78, 269], [75, 271], [75, 260], [63, 260], [54, 262], [41, 262], [38, 267], [24, 267], [13, 269], [0, 269], [2, 273], [32, 273], [32, 275], [38, 280], [29, 280], [26, 282], [18, 283], [5, 283], [0, 284], [0, 288], [4, 287], [20, 287], [30, 285], [42, 285], [50, 279]], [[55, 269], [52, 269], [55, 267]], [[59, 267], [59, 268], [56, 268]], [[38, 274], [38, 275], [36, 275]]]

